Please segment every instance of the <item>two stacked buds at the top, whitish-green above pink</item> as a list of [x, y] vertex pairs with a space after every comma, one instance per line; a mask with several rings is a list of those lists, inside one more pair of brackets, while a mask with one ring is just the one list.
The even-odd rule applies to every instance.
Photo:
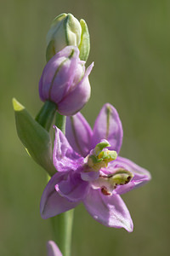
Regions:
[[94, 64], [85, 72], [90, 39], [88, 26], [71, 14], [57, 16], [47, 35], [47, 65], [39, 83], [42, 102], [54, 102], [62, 115], [81, 110], [90, 97], [88, 75]]

